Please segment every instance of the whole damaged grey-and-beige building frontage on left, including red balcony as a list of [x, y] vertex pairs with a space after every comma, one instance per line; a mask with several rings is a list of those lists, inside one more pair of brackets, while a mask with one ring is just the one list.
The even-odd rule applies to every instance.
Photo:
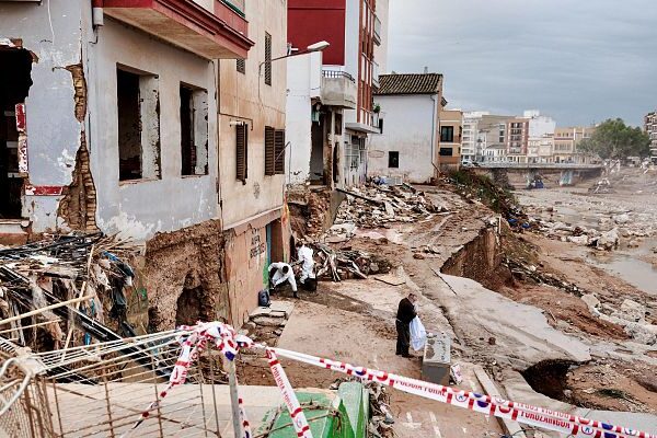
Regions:
[[[241, 324], [284, 208], [280, 1], [0, 2], [0, 237], [102, 231], [157, 328]], [[266, 104], [265, 104], [266, 102]]]

